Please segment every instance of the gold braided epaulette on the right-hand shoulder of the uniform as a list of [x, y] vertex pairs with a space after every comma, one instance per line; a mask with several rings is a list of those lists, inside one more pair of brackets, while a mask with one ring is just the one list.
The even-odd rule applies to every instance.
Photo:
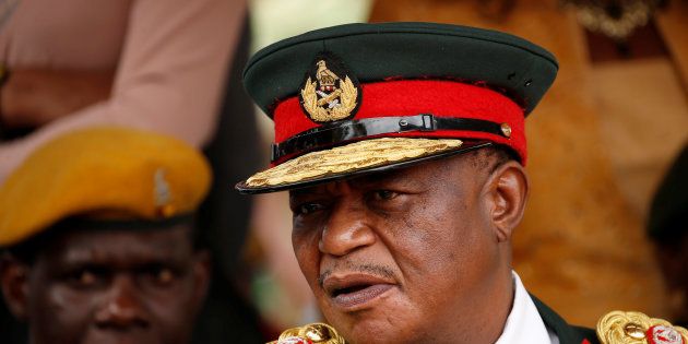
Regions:
[[688, 330], [637, 311], [615, 310], [597, 322], [603, 344], [688, 344]]

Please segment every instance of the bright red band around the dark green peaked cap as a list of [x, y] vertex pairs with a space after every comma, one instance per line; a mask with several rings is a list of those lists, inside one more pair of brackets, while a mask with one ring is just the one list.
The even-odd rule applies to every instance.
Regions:
[[[389, 133], [383, 137], [455, 138], [488, 140], [507, 145], [525, 165], [525, 132], [523, 109], [509, 97], [481, 86], [455, 81], [396, 80], [361, 83], [360, 107], [353, 120], [364, 118], [415, 116], [432, 114], [436, 117], [470, 118], [507, 123], [510, 138], [482, 131], [436, 130]], [[298, 96], [280, 103], [274, 110], [275, 143], [320, 127], [311, 121], [300, 107]]]

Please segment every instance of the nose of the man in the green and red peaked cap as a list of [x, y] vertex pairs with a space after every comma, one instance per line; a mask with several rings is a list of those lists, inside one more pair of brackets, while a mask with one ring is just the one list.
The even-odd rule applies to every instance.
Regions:
[[331, 210], [318, 247], [323, 253], [345, 256], [375, 241], [376, 234], [367, 222], [365, 205], [343, 200]]

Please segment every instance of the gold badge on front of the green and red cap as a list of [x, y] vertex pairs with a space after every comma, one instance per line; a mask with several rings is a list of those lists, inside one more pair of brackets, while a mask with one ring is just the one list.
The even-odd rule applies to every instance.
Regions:
[[301, 107], [312, 121], [331, 122], [353, 117], [358, 108], [358, 81], [330, 55], [321, 55], [307, 73], [299, 94]]

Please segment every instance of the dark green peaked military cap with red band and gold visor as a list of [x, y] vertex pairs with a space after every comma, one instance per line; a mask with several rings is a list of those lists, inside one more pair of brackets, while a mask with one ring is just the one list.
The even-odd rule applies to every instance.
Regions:
[[525, 39], [446, 24], [347, 24], [278, 41], [244, 72], [274, 120], [271, 168], [237, 189], [299, 188], [493, 144], [525, 164], [524, 118], [557, 70]]

